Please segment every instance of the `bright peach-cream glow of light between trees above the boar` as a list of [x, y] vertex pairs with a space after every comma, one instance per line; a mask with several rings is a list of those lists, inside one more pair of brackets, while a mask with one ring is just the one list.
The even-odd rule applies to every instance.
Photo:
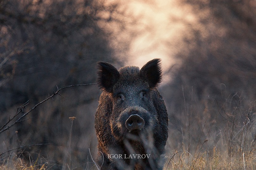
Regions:
[[189, 23], [196, 21], [190, 12], [191, 7], [184, 4], [181, 7], [177, 0], [122, 1], [122, 4], [128, 8], [127, 13], [131, 17], [138, 18], [138, 24], [133, 29], [139, 35], [132, 40], [125, 65], [141, 67], [150, 59], [161, 58], [163, 71], [166, 71], [177, 62], [174, 55], [178, 52], [176, 44], [180, 41], [179, 37], [186, 29], [184, 20]]

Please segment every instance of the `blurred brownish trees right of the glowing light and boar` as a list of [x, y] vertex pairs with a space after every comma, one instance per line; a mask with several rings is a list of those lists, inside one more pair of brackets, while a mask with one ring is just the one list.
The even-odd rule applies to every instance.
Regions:
[[[181, 64], [172, 70], [172, 81], [165, 88], [171, 127], [180, 131], [180, 144], [194, 146], [199, 139], [204, 143], [209, 133], [204, 127], [212, 133], [228, 131], [225, 125], [230, 123], [238, 128], [255, 107], [256, 3], [193, 0], [180, 5], [191, 8], [188, 14], [193, 19], [184, 23], [186, 31], [176, 55]], [[192, 127], [192, 122], [197, 123]], [[215, 139], [211, 147], [217, 144]]]

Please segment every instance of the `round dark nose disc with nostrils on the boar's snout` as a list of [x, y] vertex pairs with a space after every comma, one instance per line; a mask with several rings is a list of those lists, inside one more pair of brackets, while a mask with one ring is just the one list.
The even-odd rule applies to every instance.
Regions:
[[125, 125], [130, 130], [142, 129], [144, 127], [144, 120], [139, 115], [131, 115], [125, 122]]

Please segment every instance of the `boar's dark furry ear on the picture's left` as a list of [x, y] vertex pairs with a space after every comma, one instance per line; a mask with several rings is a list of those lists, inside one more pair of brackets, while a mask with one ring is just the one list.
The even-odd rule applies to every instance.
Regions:
[[113, 86], [119, 79], [117, 69], [108, 63], [98, 62], [98, 85], [102, 91], [112, 93]]

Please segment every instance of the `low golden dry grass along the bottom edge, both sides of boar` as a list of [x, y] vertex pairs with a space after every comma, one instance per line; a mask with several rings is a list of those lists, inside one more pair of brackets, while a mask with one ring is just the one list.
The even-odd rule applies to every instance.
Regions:
[[[226, 144], [226, 146], [228, 146]], [[168, 170], [253, 170], [256, 169], [256, 148], [255, 141], [251, 142], [251, 148], [245, 152], [241, 150], [235, 150], [231, 148], [232, 156], [229, 157], [229, 149], [218, 150], [216, 147], [213, 150], [205, 151], [202, 153], [195, 154], [193, 156], [187, 151], [176, 151], [173, 156], [168, 157], [166, 166], [164, 169]], [[40, 156], [39, 156], [40, 157]], [[40, 159], [38, 157], [38, 159]], [[7, 157], [2, 165], [0, 165], [1, 170], [45, 170], [52, 169], [52, 165], [39, 164], [38, 160], [27, 161], [20, 157], [13, 156]], [[73, 169], [66, 166], [66, 169]], [[81, 169], [76, 167], [75, 169]], [[89, 169], [86, 167], [86, 169]], [[94, 168], [96, 167], [94, 166]]]

